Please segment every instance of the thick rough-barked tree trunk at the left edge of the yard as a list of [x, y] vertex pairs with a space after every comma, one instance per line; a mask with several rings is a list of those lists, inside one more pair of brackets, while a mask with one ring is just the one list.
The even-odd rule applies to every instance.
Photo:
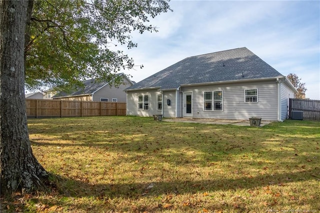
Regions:
[[45, 187], [47, 172], [32, 154], [24, 97], [28, 1], [0, 1], [1, 194]]

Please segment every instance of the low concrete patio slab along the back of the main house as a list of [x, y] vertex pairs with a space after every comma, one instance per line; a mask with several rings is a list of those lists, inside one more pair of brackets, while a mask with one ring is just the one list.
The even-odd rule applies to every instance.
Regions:
[[[189, 123], [206, 123], [206, 124], [221, 124], [221, 125], [242, 125], [250, 126], [249, 120], [228, 120], [228, 119], [208, 119], [208, 118], [170, 118], [162, 119], [165, 122], [189, 122]], [[261, 120], [260, 126], [269, 124], [270, 120]]]

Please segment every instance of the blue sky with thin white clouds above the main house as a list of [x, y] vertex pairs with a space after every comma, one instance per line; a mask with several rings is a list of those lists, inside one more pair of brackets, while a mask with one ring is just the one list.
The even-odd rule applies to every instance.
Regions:
[[[320, 3], [314, 1], [172, 0], [173, 12], [150, 20], [158, 32], [132, 33], [140, 81], [193, 55], [247, 47], [283, 75], [297, 74], [306, 97], [320, 99]], [[117, 46], [119, 47], [119, 46]]]

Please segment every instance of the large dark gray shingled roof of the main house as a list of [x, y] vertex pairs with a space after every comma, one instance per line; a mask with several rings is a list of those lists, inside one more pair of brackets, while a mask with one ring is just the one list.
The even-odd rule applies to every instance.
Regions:
[[[243, 76], [242, 76], [243, 72]], [[283, 76], [246, 47], [187, 57], [126, 88], [178, 88], [183, 84]]]

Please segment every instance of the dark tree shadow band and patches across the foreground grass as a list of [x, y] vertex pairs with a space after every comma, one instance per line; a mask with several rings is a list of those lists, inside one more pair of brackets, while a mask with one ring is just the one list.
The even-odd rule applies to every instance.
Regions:
[[[172, 180], [172, 181], [157, 181], [157, 182], [144, 182], [139, 183], [138, 180], [132, 183], [112, 183], [112, 184], [96, 184], [90, 183], [87, 181], [79, 181], [74, 180], [69, 177], [54, 175], [53, 178], [56, 183], [56, 188], [54, 190], [58, 191], [58, 196], [64, 197], [59, 200], [41, 200], [43, 203], [49, 203], [49, 205], [57, 205], [57, 206], [65, 206], [65, 197], [69, 198], [83, 198], [83, 197], [91, 197], [96, 200], [108, 200], [108, 199], [117, 199], [124, 200], [129, 199], [130, 201], [139, 200], [141, 198], [151, 197], [154, 200], [154, 197], [165, 196], [168, 194], [203, 194], [204, 192], [209, 192], [212, 196], [216, 193], [221, 194], [226, 191], [236, 191], [236, 190], [255, 190], [256, 188], [261, 187], [269, 187], [272, 185], [283, 186], [299, 181], [319, 181], [320, 177], [320, 169], [315, 167], [314, 169], [302, 170], [296, 172], [284, 172], [277, 173], [273, 175], [263, 174], [257, 175], [254, 177], [241, 176], [235, 179], [223, 178], [223, 179], [202, 179], [202, 180]], [[150, 187], [152, 185], [152, 187]], [[314, 188], [314, 196], [307, 197], [304, 200], [306, 203], [318, 203], [320, 199], [320, 194], [318, 191], [320, 190], [320, 186], [318, 188]], [[268, 192], [276, 194], [277, 191]], [[153, 198], [152, 198], [153, 197]], [[226, 201], [221, 203], [215, 203], [214, 209], [232, 209], [232, 203]], [[233, 203], [234, 204], [234, 203]], [[73, 210], [84, 210], [89, 211], [90, 208], [100, 208], [100, 206], [93, 206], [92, 203], [69, 203], [67, 204], [69, 209]], [[100, 204], [96, 204], [100, 205]], [[115, 208], [114, 206], [106, 206], [104, 210], [107, 208]], [[238, 210], [241, 211], [241, 204], [237, 206]], [[123, 207], [123, 206], [122, 206]], [[192, 207], [192, 206], [189, 206]], [[246, 210], [244, 206], [243, 211]], [[318, 206], [319, 207], [319, 206]], [[140, 206], [137, 209], [131, 209], [132, 211], [144, 211], [147, 210], [149, 212], [152, 211], [161, 211], [161, 209], [165, 209], [163, 204], [158, 203], [156, 205], [149, 204], [147, 207]], [[112, 209], [115, 210], [115, 209]], [[119, 209], [121, 211], [123, 209]], [[117, 212], [117, 210], [115, 210]]]

